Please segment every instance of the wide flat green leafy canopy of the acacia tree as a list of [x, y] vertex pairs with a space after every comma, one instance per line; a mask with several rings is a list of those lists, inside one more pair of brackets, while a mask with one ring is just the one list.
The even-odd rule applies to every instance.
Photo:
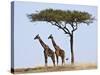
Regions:
[[28, 17], [31, 21], [47, 21], [47, 22], [66, 22], [66, 23], [92, 23], [94, 18], [88, 12], [81, 11], [64, 11], [64, 10], [54, 10], [54, 9], [45, 9], [41, 10], [39, 13], [30, 14]]

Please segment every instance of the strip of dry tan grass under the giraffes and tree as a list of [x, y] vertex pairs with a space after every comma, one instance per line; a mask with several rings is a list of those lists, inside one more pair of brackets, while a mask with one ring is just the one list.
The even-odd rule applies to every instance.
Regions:
[[64, 66], [38, 66], [35, 68], [17, 68], [15, 73], [39, 73], [39, 72], [54, 72], [54, 71], [72, 71], [72, 70], [85, 70], [85, 69], [96, 69], [96, 64], [66, 64]]

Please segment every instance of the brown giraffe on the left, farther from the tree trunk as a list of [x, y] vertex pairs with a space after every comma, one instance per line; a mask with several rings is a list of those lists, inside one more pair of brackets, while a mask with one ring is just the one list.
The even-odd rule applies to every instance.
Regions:
[[45, 66], [47, 67], [47, 62], [48, 62], [47, 59], [48, 59], [48, 57], [51, 58], [51, 60], [52, 60], [52, 62], [53, 62], [53, 65], [55, 66], [55, 54], [54, 54], [53, 50], [51, 50], [51, 49], [49, 48], [49, 46], [46, 45], [46, 44], [42, 41], [42, 39], [40, 38], [39, 34], [36, 35], [36, 37], [34, 38], [34, 40], [36, 40], [36, 39], [39, 40], [41, 46], [42, 46], [43, 49], [44, 49]]

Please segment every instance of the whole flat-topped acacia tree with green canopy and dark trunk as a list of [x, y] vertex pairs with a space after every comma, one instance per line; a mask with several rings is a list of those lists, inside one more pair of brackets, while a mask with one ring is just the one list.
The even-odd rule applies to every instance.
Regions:
[[49, 22], [51, 25], [61, 29], [66, 35], [70, 37], [70, 49], [71, 49], [71, 63], [74, 63], [74, 51], [73, 51], [73, 36], [74, 32], [77, 30], [78, 25], [81, 23], [89, 25], [93, 22], [94, 17], [88, 12], [81, 11], [64, 11], [64, 10], [54, 10], [45, 9], [37, 13], [32, 13], [28, 15], [31, 22], [41, 21]]

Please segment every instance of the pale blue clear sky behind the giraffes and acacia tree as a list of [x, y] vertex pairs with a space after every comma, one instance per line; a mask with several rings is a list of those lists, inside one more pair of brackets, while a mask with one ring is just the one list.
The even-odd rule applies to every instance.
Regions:
[[[97, 7], [83, 5], [36, 3], [36, 2], [14, 2], [14, 67], [36, 67], [44, 65], [43, 47], [34, 37], [39, 34], [41, 39], [53, 50], [50, 34], [55, 42], [65, 51], [65, 58], [70, 63], [69, 36], [57, 27], [47, 22], [30, 22], [27, 14], [37, 13], [43, 9], [78, 10], [92, 14], [96, 20], [89, 26], [80, 24], [74, 32], [74, 56], [75, 63], [97, 63]], [[61, 59], [59, 58], [59, 64]], [[48, 58], [48, 65], [52, 61]]]

